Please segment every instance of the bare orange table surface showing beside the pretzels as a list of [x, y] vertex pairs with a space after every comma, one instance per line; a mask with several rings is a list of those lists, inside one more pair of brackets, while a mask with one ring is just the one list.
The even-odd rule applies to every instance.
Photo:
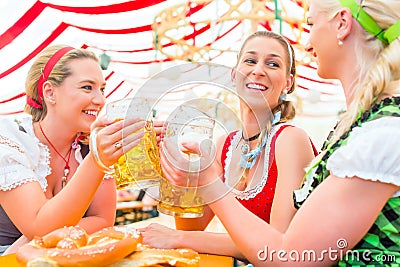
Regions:
[[[0, 256], [0, 266], [18, 267], [15, 254]], [[200, 267], [232, 267], [233, 259], [230, 257], [200, 254]]]

